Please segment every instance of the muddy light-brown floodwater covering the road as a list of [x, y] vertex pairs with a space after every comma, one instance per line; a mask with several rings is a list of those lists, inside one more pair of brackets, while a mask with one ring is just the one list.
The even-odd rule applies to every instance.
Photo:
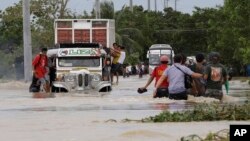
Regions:
[[[4, 141], [177, 141], [182, 136], [229, 129], [230, 124], [249, 121], [138, 123], [162, 110], [191, 109], [195, 103], [217, 101], [189, 97], [187, 101], [152, 98], [138, 94], [148, 77], [120, 77], [108, 93], [55, 94], [54, 98], [32, 98], [27, 83], [0, 83], [0, 140]], [[231, 81], [223, 103], [249, 100], [247, 82]], [[135, 120], [124, 122], [124, 119]], [[204, 128], [205, 127], [205, 128]]]

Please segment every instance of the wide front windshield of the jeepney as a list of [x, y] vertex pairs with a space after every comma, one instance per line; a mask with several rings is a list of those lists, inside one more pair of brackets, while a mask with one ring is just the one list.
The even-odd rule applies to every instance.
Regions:
[[58, 65], [60, 67], [99, 67], [100, 57], [60, 57]]

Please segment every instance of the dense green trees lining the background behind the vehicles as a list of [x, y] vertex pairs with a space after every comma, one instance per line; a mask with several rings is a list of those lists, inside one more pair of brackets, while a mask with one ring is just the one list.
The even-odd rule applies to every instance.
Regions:
[[[55, 19], [95, 18], [95, 11], [76, 14], [67, 8], [70, 0], [31, 0], [32, 48], [54, 46]], [[126, 46], [126, 63], [146, 60], [151, 44], [170, 44], [175, 52], [194, 55], [197, 52], [218, 51], [223, 64], [239, 73], [250, 63], [250, 3], [248, 0], [225, 0], [224, 6], [198, 8], [192, 15], [166, 8], [155, 12], [134, 6], [114, 11], [112, 1], [101, 4], [101, 18], [116, 21], [116, 42]], [[0, 11], [0, 54], [7, 58], [4, 68], [10, 68], [15, 57], [22, 55], [22, 0]], [[13, 55], [14, 54], [14, 55]], [[1, 70], [0, 76], [5, 70]], [[9, 73], [9, 72], [8, 72]], [[5, 74], [6, 75], [6, 74]]]

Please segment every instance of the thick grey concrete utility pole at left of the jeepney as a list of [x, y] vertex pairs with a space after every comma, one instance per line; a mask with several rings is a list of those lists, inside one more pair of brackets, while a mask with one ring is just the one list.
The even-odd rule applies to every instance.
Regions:
[[24, 81], [32, 78], [32, 48], [30, 30], [30, 0], [23, 0], [23, 53], [24, 53]]

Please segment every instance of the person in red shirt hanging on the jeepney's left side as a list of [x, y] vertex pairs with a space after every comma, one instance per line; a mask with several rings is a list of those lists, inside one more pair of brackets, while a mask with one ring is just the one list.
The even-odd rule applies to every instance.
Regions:
[[48, 57], [47, 48], [42, 48], [41, 52], [35, 56], [32, 61], [33, 67], [33, 79], [37, 79], [36, 83], [39, 83], [45, 92], [49, 92], [49, 80], [48, 75]]

